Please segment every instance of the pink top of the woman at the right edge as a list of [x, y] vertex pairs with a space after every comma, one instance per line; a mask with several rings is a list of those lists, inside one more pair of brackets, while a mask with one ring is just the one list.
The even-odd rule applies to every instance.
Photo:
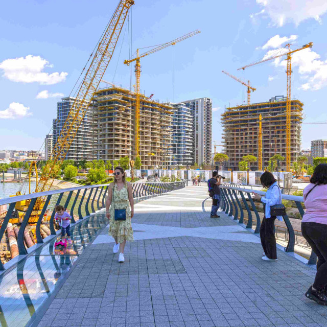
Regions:
[[302, 218], [303, 223], [314, 222], [327, 225], [327, 184], [318, 185], [310, 192], [315, 184], [310, 183], [303, 191], [307, 212]]

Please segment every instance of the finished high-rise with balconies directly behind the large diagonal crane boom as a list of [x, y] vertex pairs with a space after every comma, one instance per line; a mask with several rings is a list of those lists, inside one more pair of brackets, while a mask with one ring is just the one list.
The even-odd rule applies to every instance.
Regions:
[[[68, 117], [69, 110], [74, 104], [74, 98], [62, 98], [57, 102], [57, 119], [53, 120], [53, 144], [55, 145], [60, 135], [62, 127]], [[86, 105], [85, 105], [86, 106]], [[93, 106], [90, 106], [84, 116], [83, 121], [75, 135], [75, 138], [68, 149], [66, 159], [70, 160], [93, 160], [94, 143], [96, 141], [93, 130]]]

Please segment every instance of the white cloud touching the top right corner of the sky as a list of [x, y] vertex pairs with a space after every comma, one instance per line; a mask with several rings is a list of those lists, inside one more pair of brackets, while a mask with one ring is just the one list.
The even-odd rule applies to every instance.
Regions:
[[256, 0], [256, 3], [263, 7], [272, 24], [279, 27], [287, 22], [298, 26], [309, 18], [321, 24], [320, 17], [327, 12], [326, 0]]

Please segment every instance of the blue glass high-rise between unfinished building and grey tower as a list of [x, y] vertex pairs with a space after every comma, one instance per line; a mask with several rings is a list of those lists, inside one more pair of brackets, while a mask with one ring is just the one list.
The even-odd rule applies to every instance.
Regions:
[[184, 103], [169, 103], [169, 105], [174, 108], [171, 165], [191, 166], [194, 164], [192, 110]]

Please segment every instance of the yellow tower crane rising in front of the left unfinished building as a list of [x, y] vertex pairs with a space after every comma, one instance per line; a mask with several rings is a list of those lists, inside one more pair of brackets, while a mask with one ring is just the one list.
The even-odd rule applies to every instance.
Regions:
[[141, 76], [141, 63], [140, 59], [148, 56], [154, 52], [157, 52], [159, 50], [167, 48], [167, 46], [170, 45], [175, 45], [176, 43], [183, 41], [191, 36], [194, 36], [196, 34], [200, 33], [200, 31], [196, 30], [194, 32], [185, 34], [173, 41], [167, 42], [167, 43], [162, 43], [156, 48], [153, 48], [143, 54], [139, 54], [139, 49], [136, 50], [136, 57], [130, 60], [125, 60], [124, 64], [129, 66], [129, 64], [133, 61], [135, 61], [135, 92], [136, 92], [136, 103], [135, 103], [135, 152], [136, 156], [139, 156], [139, 110], [140, 110], [140, 99], [141, 99], [141, 94], [140, 94], [140, 87], [139, 87], [139, 78]]

